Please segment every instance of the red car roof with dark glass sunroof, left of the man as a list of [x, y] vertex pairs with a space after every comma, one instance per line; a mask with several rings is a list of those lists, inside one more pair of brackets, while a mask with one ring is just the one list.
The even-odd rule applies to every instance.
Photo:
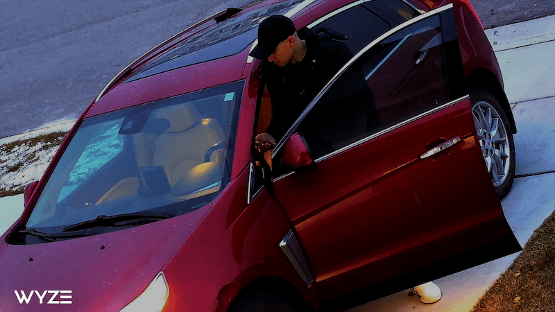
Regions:
[[[241, 79], [248, 47], [269, 15], [292, 17], [316, 0], [262, 1], [228, 9], [148, 51], [112, 80], [86, 116], [94, 116]], [[232, 15], [232, 16], [229, 16]]]

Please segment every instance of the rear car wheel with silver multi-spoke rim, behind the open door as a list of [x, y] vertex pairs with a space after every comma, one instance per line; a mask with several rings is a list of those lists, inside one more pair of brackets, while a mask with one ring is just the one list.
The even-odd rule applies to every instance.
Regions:
[[499, 199], [504, 198], [515, 179], [515, 141], [505, 111], [485, 89], [470, 89], [472, 115], [486, 168]]

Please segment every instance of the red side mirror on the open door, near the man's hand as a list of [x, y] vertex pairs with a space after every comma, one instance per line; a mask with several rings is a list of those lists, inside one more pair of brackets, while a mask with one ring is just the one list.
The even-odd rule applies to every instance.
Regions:
[[307, 142], [298, 133], [287, 139], [283, 149], [282, 164], [295, 171], [310, 171], [316, 168]]

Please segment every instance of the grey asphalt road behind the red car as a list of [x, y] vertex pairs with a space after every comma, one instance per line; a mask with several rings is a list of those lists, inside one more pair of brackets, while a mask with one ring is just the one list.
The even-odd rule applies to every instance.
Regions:
[[[0, 137], [76, 119], [123, 67], [252, 0], [0, 0]], [[553, 0], [470, 0], [484, 27], [555, 14]]]

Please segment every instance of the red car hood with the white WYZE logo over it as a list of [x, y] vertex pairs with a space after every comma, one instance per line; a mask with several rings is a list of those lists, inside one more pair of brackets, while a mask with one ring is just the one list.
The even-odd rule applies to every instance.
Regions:
[[[144, 291], [209, 208], [67, 241], [0, 241], [0, 311], [119, 311]], [[42, 304], [36, 293], [20, 304], [15, 291], [71, 291], [71, 299], [62, 299], [71, 304], [47, 304], [52, 293]]]

